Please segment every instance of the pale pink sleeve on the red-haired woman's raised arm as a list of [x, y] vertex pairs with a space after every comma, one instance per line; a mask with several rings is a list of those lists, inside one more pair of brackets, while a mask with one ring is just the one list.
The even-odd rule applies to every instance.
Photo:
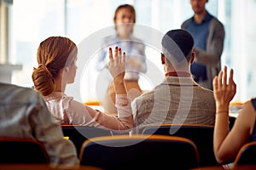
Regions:
[[116, 96], [118, 117], [94, 110], [88, 105], [73, 100], [73, 98], [67, 97], [64, 103], [64, 109], [71, 124], [118, 131], [131, 130], [134, 126], [131, 113], [131, 99], [128, 99], [126, 94], [118, 94]]

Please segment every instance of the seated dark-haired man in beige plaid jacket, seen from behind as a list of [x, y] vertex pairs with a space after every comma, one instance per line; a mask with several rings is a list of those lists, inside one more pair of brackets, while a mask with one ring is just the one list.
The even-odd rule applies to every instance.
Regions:
[[213, 92], [197, 84], [190, 73], [195, 59], [193, 37], [183, 29], [171, 30], [161, 44], [166, 79], [132, 101], [135, 128], [131, 133], [142, 133], [150, 124], [214, 125]]

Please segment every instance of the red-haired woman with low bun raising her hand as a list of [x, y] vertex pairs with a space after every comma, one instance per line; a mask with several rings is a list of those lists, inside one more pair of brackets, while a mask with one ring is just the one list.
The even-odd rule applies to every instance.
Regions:
[[[78, 48], [67, 37], [48, 37], [38, 47], [38, 68], [34, 68], [34, 88], [44, 96], [46, 105], [60, 124], [128, 130], [133, 127], [131, 100], [125, 88], [125, 53], [109, 48], [108, 69], [113, 76], [118, 117], [94, 110], [65, 94], [68, 83], [76, 75]], [[114, 57], [113, 57], [114, 55]]]

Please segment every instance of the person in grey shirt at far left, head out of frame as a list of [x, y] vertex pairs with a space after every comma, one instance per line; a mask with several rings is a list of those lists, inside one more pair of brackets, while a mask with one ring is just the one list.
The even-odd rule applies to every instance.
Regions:
[[75, 146], [63, 138], [40, 94], [0, 82], [0, 99], [1, 137], [37, 139], [44, 144], [52, 165], [79, 165]]

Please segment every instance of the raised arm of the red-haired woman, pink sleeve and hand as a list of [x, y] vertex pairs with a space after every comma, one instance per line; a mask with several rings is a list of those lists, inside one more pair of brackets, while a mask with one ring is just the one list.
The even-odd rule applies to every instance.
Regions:
[[[112, 48], [109, 48], [108, 69], [113, 77], [114, 88], [117, 94], [115, 105], [118, 110], [118, 117], [93, 110], [88, 106], [77, 106], [73, 108], [81, 108], [89, 113], [91, 118], [88, 117], [88, 119], [84, 120], [82, 122], [83, 125], [103, 127], [110, 130], [131, 130], [134, 127], [134, 123], [131, 111], [131, 99], [127, 96], [124, 81], [125, 53], [122, 54], [121, 48], [116, 47], [114, 53], [112, 52]], [[75, 102], [72, 102], [72, 104], [75, 105]], [[79, 113], [79, 111], [77, 112]], [[85, 118], [85, 116], [83, 117]], [[82, 118], [79, 120], [82, 120]]]

